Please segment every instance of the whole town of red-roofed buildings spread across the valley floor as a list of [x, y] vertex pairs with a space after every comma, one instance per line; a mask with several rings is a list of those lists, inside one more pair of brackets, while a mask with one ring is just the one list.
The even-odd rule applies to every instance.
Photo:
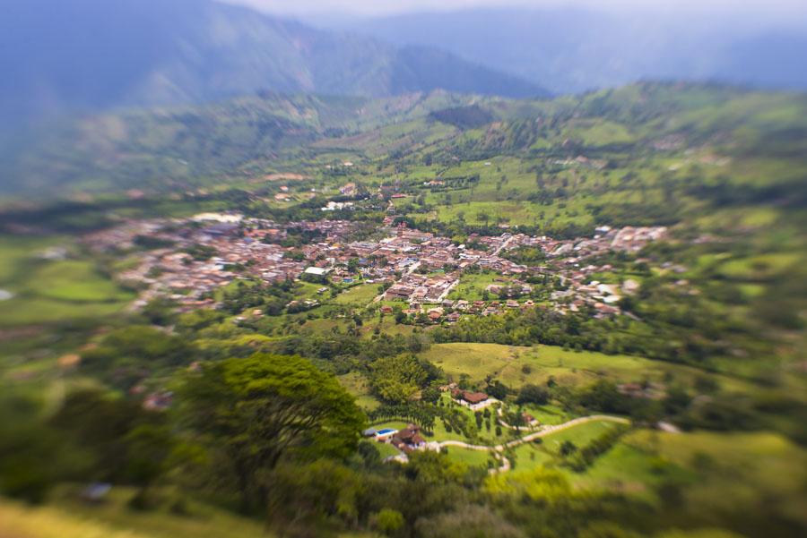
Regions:
[[[525, 279], [536, 276], [560, 282], [547, 297], [560, 312], [577, 312], [588, 304], [596, 316], [618, 314], [620, 297], [635, 293], [638, 283], [598, 282], [592, 278], [595, 273], [613, 268], [586, 260], [606, 252], [638, 252], [666, 235], [661, 226], [601, 226], [593, 237], [557, 240], [506, 232], [471, 235], [466, 245], [404, 225], [381, 229], [385, 231], [382, 239], [351, 241], [355, 226], [346, 220], [280, 225], [207, 213], [187, 220], [133, 221], [87, 235], [85, 242], [100, 251], [135, 252], [136, 263], [117, 278], [142, 289], [136, 305], [169, 296], [191, 310], [213, 306], [212, 292], [236, 278], [272, 283], [304, 277], [324, 285], [359, 281], [383, 285], [386, 291], [379, 298], [406, 303], [405, 313], [453, 322], [464, 314], [490, 315], [533, 306], [533, 286]], [[307, 240], [290, 246], [292, 235]], [[525, 266], [508, 260], [509, 252], [522, 247], [541, 249], [545, 262]], [[487, 286], [490, 297], [448, 299], [469, 269], [501, 276]]]

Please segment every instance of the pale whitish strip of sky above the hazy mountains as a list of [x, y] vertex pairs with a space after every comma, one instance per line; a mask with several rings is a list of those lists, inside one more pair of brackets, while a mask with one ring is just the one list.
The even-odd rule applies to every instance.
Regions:
[[225, 0], [271, 13], [382, 15], [415, 11], [447, 11], [470, 7], [585, 6], [608, 11], [654, 10], [716, 15], [755, 14], [787, 18], [807, 16], [807, 0]]

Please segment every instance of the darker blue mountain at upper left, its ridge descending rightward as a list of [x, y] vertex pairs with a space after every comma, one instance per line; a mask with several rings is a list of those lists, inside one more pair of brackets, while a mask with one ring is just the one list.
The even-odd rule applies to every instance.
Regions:
[[211, 0], [7, 0], [0, 66], [4, 120], [256, 90], [547, 95], [434, 47], [394, 47]]

